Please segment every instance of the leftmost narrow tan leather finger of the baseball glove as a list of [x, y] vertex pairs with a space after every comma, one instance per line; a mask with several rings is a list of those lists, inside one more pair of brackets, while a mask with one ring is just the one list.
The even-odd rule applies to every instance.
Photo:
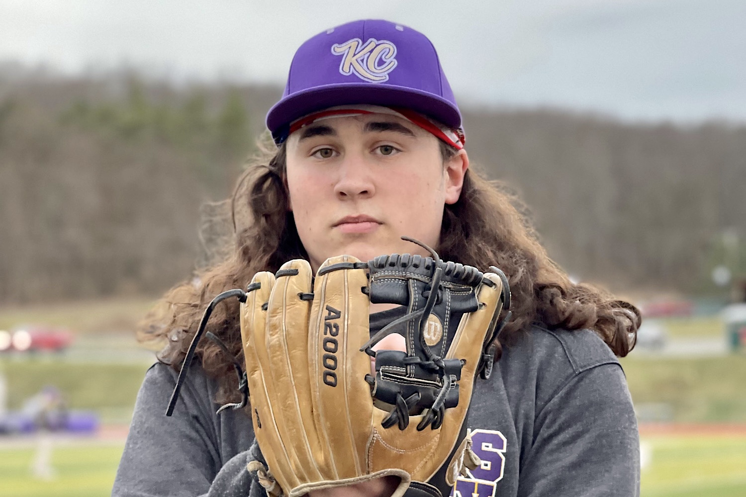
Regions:
[[[263, 448], [263, 455], [271, 468], [289, 466], [289, 455], [284, 450], [280, 433], [275, 425], [272, 409], [275, 401], [272, 395], [272, 376], [269, 355], [266, 353], [266, 316], [262, 307], [269, 301], [275, 275], [266, 271], [254, 275], [251, 284], [259, 283], [260, 288], [248, 294], [241, 305], [241, 336], [246, 361], [246, 376], [251, 393], [251, 421], [257, 443]], [[267, 450], [267, 448], [272, 450]], [[275, 475], [280, 487], [292, 488], [297, 482], [287, 481], [282, 474]]]

